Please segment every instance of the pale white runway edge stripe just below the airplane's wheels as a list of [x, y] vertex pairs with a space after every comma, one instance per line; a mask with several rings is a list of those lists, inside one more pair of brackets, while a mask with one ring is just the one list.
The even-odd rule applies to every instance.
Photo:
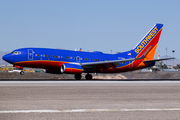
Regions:
[[180, 86], [180, 81], [0, 81], [4, 86]]

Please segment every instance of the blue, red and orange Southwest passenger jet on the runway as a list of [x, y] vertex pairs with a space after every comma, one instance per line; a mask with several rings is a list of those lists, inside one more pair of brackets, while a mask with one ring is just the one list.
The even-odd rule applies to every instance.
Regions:
[[[118, 73], [151, 67], [158, 45], [163, 24], [155, 24], [143, 39], [132, 49], [117, 54], [105, 54], [99, 51], [83, 52], [48, 48], [21, 48], [3, 56], [3, 59], [15, 66], [43, 68], [47, 73], [75, 74], [81, 79], [81, 73], [87, 73], [86, 79], [91, 80], [90, 73]], [[23, 71], [21, 74], [24, 74]]]

